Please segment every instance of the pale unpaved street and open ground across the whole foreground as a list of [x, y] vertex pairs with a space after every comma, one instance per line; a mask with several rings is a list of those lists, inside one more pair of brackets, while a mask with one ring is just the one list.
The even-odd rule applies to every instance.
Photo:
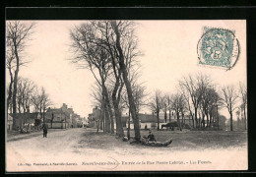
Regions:
[[[146, 133], [148, 132], [142, 132], [142, 134]], [[170, 132], [160, 132], [160, 134], [170, 134]], [[225, 168], [226, 161], [229, 161], [228, 168], [237, 169], [238, 166], [243, 169], [247, 166], [247, 147], [243, 142], [237, 147], [233, 146], [232, 142], [238, 143], [240, 141], [238, 139], [232, 140], [229, 147], [212, 147], [216, 144], [213, 141], [216, 140], [211, 138], [211, 134], [216, 133], [208, 135], [197, 132], [172, 133], [173, 143], [169, 147], [156, 148], [130, 145], [116, 139], [115, 136], [96, 133], [94, 129], [60, 130], [50, 132], [48, 138], [42, 138], [40, 135], [7, 142], [7, 169], [17, 171], [142, 169], [142, 164], [136, 165], [136, 162], [145, 162], [143, 166], [145, 170], [219, 169]], [[237, 135], [233, 137], [238, 137]], [[209, 143], [200, 143], [205, 140], [203, 136], [208, 137]], [[158, 134], [156, 137], [159, 140], [163, 139]], [[243, 136], [239, 139], [242, 138]], [[218, 141], [222, 142], [220, 138]], [[202, 146], [204, 144], [208, 146]], [[242, 160], [236, 160], [237, 155], [241, 156], [239, 159]], [[201, 164], [198, 160], [204, 163]]]

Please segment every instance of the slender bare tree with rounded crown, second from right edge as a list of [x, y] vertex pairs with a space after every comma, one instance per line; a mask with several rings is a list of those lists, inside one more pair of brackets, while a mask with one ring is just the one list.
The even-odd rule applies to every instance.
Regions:
[[233, 131], [233, 127], [232, 127], [232, 119], [233, 119], [233, 116], [232, 116], [232, 113], [233, 113], [233, 110], [236, 109], [236, 102], [237, 102], [237, 98], [238, 98], [238, 95], [237, 95], [237, 92], [236, 90], [234, 89], [233, 86], [227, 86], [227, 87], [224, 87], [222, 89], [222, 102], [224, 104], [224, 106], [227, 108], [227, 111], [230, 115], [230, 131]]

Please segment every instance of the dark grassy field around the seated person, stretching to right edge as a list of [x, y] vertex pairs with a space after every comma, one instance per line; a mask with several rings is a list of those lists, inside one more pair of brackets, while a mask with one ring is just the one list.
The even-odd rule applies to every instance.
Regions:
[[[227, 131], [157, 131], [152, 130], [152, 133], [155, 135], [155, 138], [158, 142], [165, 142], [167, 140], [172, 140], [172, 144], [167, 148], [172, 150], [187, 150], [194, 149], [200, 150], [204, 148], [218, 149], [218, 148], [246, 148], [247, 147], [247, 133], [246, 132], [227, 132]], [[113, 140], [114, 136], [103, 135], [102, 133], [90, 132], [91, 136], [88, 136], [89, 139], [86, 141], [90, 141], [88, 144], [92, 148], [102, 148], [104, 145], [105, 148], [111, 148], [114, 146], [122, 147], [129, 145], [129, 143], [122, 142], [115, 144], [114, 142], [121, 140]], [[125, 131], [126, 134], [126, 131]], [[141, 136], [148, 136], [149, 131], [142, 130]], [[85, 134], [86, 136], [86, 134]], [[134, 132], [131, 131], [131, 136], [134, 136]], [[112, 146], [111, 146], [112, 145]], [[129, 145], [133, 148], [140, 148], [141, 145]], [[156, 147], [148, 147], [142, 146], [143, 148], [153, 148], [155, 150]], [[161, 150], [162, 150], [161, 149]]]

